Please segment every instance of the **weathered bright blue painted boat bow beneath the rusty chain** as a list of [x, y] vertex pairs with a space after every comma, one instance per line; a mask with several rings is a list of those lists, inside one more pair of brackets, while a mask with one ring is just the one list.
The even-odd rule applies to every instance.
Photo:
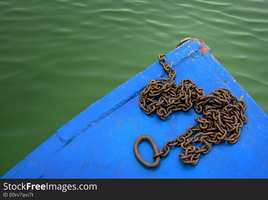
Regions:
[[[178, 158], [182, 149], [175, 147], [156, 168], [137, 161], [137, 137], [150, 135], [161, 147], [201, 117], [191, 109], [162, 121], [139, 108], [139, 93], [146, 84], [167, 76], [155, 62], [62, 126], [2, 178], [268, 178], [268, 117], [263, 110], [201, 41], [191, 39], [166, 58], [174, 62], [177, 83], [190, 78], [206, 94], [225, 87], [244, 98], [248, 122], [236, 144], [212, 145], [196, 166], [184, 165]], [[139, 150], [148, 162], [154, 161], [148, 142], [141, 142]]]

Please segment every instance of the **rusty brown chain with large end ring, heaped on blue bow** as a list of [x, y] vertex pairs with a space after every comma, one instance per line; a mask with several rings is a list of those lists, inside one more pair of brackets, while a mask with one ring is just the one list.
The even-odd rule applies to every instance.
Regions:
[[[168, 78], [151, 80], [146, 85], [140, 93], [140, 108], [147, 115], [156, 112], [162, 120], [166, 120], [178, 110], [187, 111], [194, 107], [196, 113], [203, 113], [204, 118], [197, 117], [195, 119], [198, 122], [197, 127], [186, 128], [185, 133], [167, 141], [160, 150], [150, 136], [140, 136], [134, 144], [136, 158], [147, 167], [156, 167], [160, 157], [168, 155], [171, 147], [180, 146], [184, 152], [179, 154], [182, 163], [196, 165], [201, 154], [210, 152], [211, 144], [218, 145], [225, 141], [230, 144], [236, 143], [243, 124], [247, 122], [245, 102], [234, 96], [227, 88], [217, 89], [205, 95], [203, 89], [197, 88], [197, 84], [190, 79], [183, 79], [178, 85], [174, 80], [176, 72], [168, 65], [165, 54], [159, 54], [158, 59]], [[155, 163], [147, 163], [139, 154], [138, 146], [144, 139], [153, 146]], [[202, 147], [196, 147], [193, 143], [201, 143]]]

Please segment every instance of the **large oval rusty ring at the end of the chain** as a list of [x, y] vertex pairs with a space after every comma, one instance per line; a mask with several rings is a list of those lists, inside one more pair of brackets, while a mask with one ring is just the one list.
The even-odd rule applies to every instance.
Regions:
[[135, 154], [136, 158], [139, 160], [139, 162], [142, 163], [143, 165], [145, 165], [146, 167], [156, 167], [157, 165], [159, 165], [159, 162], [160, 162], [159, 156], [156, 158], [154, 163], [148, 163], [139, 155], [139, 150], [138, 150], [139, 143], [143, 140], [148, 140], [150, 142], [150, 144], [153, 147], [153, 152], [155, 155], [159, 154], [159, 149], [158, 149], [157, 145], [155, 144], [155, 142], [153, 141], [153, 138], [151, 138], [148, 135], [141, 135], [141, 136], [139, 136], [139, 138], [136, 139], [136, 141], [134, 143], [134, 154]]

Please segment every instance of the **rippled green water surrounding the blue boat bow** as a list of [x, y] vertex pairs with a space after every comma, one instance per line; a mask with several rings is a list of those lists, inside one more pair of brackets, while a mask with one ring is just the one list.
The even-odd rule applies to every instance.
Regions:
[[0, 176], [185, 37], [268, 113], [268, 1], [0, 1]]

